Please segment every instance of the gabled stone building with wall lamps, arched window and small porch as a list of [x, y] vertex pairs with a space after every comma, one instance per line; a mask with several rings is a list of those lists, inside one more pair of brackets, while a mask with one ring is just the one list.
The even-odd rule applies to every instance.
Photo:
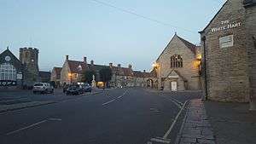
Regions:
[[154, 64], [158, 89], [166, 91], [201, 89], [200, 47], [175, 33]]

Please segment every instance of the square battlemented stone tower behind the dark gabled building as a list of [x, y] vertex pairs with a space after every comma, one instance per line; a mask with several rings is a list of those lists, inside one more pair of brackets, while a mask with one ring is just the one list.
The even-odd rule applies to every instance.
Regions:
[[38, 49], [20, 48], [20, 62], [25, 66], [24, 83], [31, 86], [38, 81]]

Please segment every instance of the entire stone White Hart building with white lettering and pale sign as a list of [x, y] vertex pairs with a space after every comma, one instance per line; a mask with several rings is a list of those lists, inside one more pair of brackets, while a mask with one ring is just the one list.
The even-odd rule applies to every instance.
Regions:
[[255, 86], [255, 13], [252, 12], [253, 6], [246, 12], [242, 0], [227, 0], [200, 32], [206, 70], [203, 86], [210, 100], [249, 101], [250, 88]]

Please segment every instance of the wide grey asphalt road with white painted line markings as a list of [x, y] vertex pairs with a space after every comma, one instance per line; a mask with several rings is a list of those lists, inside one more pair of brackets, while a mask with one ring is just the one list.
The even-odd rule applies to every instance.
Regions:
[[[183, 103], [198, 97], [200, 93], [195, 92], [110, 89], [55, 104], [4, 112], [0, 113], [0, 143], [146, 144], [151, 138], [166, 135]], [[166, 138], [175, 141], [181, 119]]]

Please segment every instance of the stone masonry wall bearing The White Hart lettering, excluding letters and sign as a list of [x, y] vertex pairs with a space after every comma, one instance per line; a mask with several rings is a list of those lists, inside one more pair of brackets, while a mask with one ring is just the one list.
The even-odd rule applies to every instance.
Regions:
[[[244, 14], [242, 0], [229, 0], [201, 33], [201, 37], [206, 37], [207, 92], [211, 100], [248, 101], [249, 81]], [[237, 23], [240, 25], [212, 32], [212, 28], [227, 27]], [[228, 35], [234, 36], [234, 45], [220, 48], [219, 37]]]

